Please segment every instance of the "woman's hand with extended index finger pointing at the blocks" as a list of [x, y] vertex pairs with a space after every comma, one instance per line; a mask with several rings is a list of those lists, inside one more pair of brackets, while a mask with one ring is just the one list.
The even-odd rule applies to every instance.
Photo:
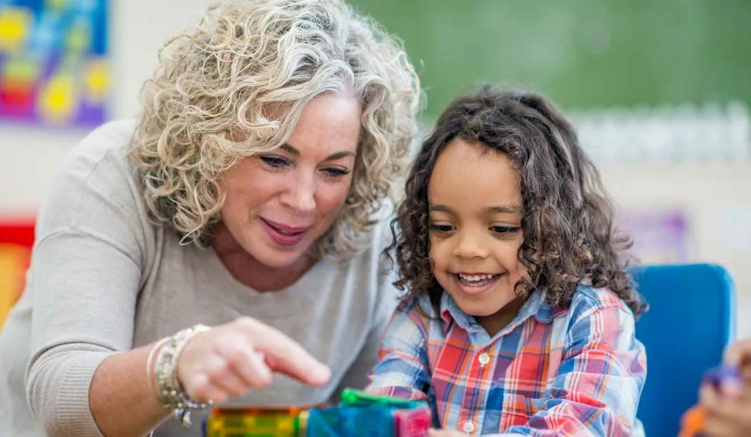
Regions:
[[191, 338], [177, 362], [183, 390], [198, 402], [221, 403], [250, 388], [266, 387], [273, 372], [311, 385], [323, 385], [331, 376], [300, 344], [250, 317]]

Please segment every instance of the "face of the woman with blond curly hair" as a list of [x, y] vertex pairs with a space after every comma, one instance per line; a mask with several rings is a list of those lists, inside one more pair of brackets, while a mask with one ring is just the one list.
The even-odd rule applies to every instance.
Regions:
[[349, 192], [361, 115], [354, 96], [316, 96], [285, 144], [225, 173], [222, 222], [261, 264], [291, 266], [330, 228]]

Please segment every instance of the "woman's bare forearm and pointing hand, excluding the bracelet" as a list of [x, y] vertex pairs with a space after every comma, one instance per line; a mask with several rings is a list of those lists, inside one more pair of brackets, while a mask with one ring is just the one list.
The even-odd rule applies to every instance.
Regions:
[[[152, 346], [115, 354], [97, 369], [90, 399], [92, 414], [104, 434], [143, 435], [167, 415], [149, 387], [155, 382], [146, 378]], [[273, 372], [311, 385], [325, 384], [330, 378], [330, 370], [303, 347], [249, 317], [216, 326], [189, 340], [176, 370], [192, 399], [218, 403], [230, 396], [243, 396], [252, 388], [267, 387]]]

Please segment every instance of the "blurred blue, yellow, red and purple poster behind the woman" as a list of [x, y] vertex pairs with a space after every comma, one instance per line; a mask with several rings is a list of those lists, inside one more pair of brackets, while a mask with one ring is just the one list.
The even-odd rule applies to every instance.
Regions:
[[0, 121], [106, 119], [107, 0], [0, 0]]

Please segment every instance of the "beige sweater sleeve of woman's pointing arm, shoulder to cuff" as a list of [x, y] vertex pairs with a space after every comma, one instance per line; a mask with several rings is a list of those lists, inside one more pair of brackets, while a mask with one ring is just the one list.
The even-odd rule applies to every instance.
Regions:
[[[153, 234], [123, 156], [131, 133], [130, 123], [109, 123], [86, 137], [65, 160], [37, 217], [26, 290], [33, 314], [26, 394], [50, 435], [100, 434], [89, 408], [93, 375], [108, 357], [132, 347]], [[144, 362], [128, 372], [145, 369]], [[129, 376], [122, 375], [126, 390], [143, 391], [145, 377]]]

